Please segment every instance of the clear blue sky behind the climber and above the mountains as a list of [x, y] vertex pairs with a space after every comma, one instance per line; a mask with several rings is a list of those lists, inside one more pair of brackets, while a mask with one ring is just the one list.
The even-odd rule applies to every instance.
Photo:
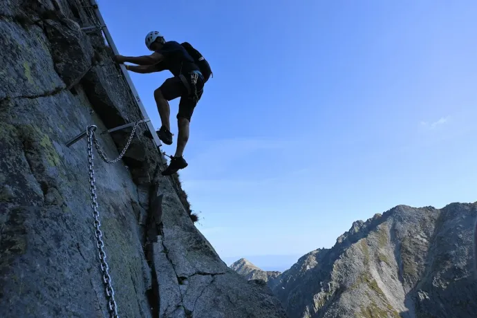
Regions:
[[[144, 37], [158, 30], [209, 61], [180, 176], [227, 263], [283, 269], [277, 257], [292, 265], [395, 205], [477, 200], [475, 1], [118, 0], [100, 10], [122, 55], [149, 54]], [[170, 76], [131, 73], [157, 128], [153, 90]]]

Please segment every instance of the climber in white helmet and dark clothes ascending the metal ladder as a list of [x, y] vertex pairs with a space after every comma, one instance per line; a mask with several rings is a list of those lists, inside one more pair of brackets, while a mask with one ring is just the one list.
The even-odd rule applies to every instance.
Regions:
[[[209, 68], [205, 68], [205, 74], [201, 72], [204, 68], [203, 57], [193, 58], [195, 49], [191, 52], [187, 50], [187, 42], [179, 44], [176, 41], [165, 41], [164, 37], [157, 31], [149, 32], [146, 36], [146, 46], [153, 51], [151, 55], [140, 57], [127, 57], [115, 55], [114, 60], [119, 64], [129, 62], [138, 64], [138, 66], [126, 65], [128, 71], [135, 73], [153, 73], [169, 70], [174, 77], [166, 79], [165, 82], [154, 91], [154, 99], [158, 107], [162, 126], [156, 133], [162, 142], [172, 144], [172, 133], [169, 126], [169, 100], [180, 97], [179, 109], [177, 113], [178, 120], [178, 139], [176, 154], [171, 157], [169, 167], [162, 171], [162, 176], [170, 176], [179, 169], [187, 167], [187, 162], [183, 158], [185, 144], [189, 140], [189, 124], [194, 108], [197, 105], [203, 93], [205, 82], [209, 78]], [[198, 53], [200, 55], [200, 53]], [[195, 57], [195, 55], [194, 55]], [[207, 63], [207, 62], [206, 62]], [[207, 64], [208, 67], [208, 64]], [[212, 73], [212, 72], [210, 72]], [[205, 77], [204, 77], [205, 75]], [[151, 133], [145, 133], [152, 138]]]

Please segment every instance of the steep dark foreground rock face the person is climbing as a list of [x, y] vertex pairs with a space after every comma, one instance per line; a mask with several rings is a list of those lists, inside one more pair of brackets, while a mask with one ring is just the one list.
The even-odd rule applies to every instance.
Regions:
[[[0, 4], [0, 317], [109, 317], [91, 208], [86, 138], [106, 157], [139, 120], [77, 1]], [[152, 93], [152, 92], [151, 92]], [[177, 176], [142, 136], [122, 160], [93, 147], [100, 230], [120, 317], [287, 317], [270, 288], [227, 268], [194, 226]], [[182, 194], [180, 194], [182, 195]]]

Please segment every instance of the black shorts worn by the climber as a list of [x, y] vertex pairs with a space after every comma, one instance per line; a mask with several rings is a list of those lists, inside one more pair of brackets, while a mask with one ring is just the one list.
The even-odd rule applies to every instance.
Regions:
[[[183, 76], [183, 79], [178, 76], [166, 79], [159, 89], [166, 100], [174, 100], [177, 97], [180, 97], [177, 118], [186, 118], [190, 121], [192, 113], [194, 113], [194, 108], [196, 107], [198, 100], [200, 100], [200, 97], [202, 97], [204, 80], [202, 77], [198, 77], [196, 84], [198, 100], [194, 100], [194, 91], [192, 91], [194, 86], [192, 86], [190, 75], [184, 74], [181, 76]], [[190, 95], [183, 80], [187, 80], [187, 84], [191, 88]]]

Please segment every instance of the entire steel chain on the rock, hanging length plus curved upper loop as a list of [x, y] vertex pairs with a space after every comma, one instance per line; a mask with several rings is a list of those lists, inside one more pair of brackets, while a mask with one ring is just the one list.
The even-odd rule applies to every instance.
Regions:
[[123, 156], [124, 153], [126, 153], [127, 149], [129, 148], [129, 144], [131, 144], [131, 140], [133, 140], [133, 136], [135, 133], [136, 127], [138, 127], [139, 122], [135, 122], [133, 126], [133, 131], [131, 132], [131, 135], [129, 136], [129, 140], [124, 147], [124, 149], [121, 151], [120, 156], [116, 158], [115, 160], [109, 160], [106, 158], [104, 155], [104, 152], [102, 151], [100, 144], [97, 142], [97, 138], [95, 135], [95, 130], [97, 127], [95, 125], [91, 125], [86, 127], [86, 135], [87, 135], [87, 140], [88, 140], [88, 171], [89, 171], [89, 187], [91, 189], [91, 208], [93, 209], [93, 218], [94, 218], [94, 225], [95, 225], [95, 236], [96, 236], [96, 246], [99, 250], [98, 255], [100, 256], [100, 265], [101, 265], [101, 270], [103, 274], [103, 282], [104, 286], [106, 288], [106, 297], [108, 300], [108, 306], [109, 306], [109, 313], [110, 317], [113, 318], [118, 318], [118, 306], [116, 305], [116, 301], [114, 299], [114, 290], [113, 290], [113, 285], [111, 283], [111, 276], [109, 275], [109, 265], [106, 262], [106, 253], [104, 252], [104, 242], [102, 240], [102, 231], [100, 230], [101, 222], [99, 219], [100, 213], [97, 211], [97, 196], [96, 196], [96, 185], [95, 185], [95, 171], [94, 171], [94, 164], [93, 164], [93, 144], [97, 150], [97, 152], [100, 154], [100, 157], [104, 162], [107, 162], [109, 164], [113, 164], [115, 162], [118, 162]]

